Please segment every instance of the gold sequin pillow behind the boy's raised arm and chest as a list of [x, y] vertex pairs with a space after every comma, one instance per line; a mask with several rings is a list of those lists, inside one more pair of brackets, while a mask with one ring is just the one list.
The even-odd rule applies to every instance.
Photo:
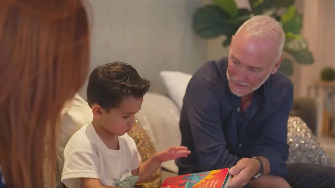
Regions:
[[[136, 120], [136, 124], [128, 132], [137, 146], [137, 150], [141, 155], [142, 163], [150, 158], [156, 152], [150, 137], [146, 134], [145, 130], [142, 128], [141, 124]], [[152, 176], [145, 181], [145, 183], [136, 184], [137, 188], [159, 188], [161, 184], [161, 170], [158, 168]]]

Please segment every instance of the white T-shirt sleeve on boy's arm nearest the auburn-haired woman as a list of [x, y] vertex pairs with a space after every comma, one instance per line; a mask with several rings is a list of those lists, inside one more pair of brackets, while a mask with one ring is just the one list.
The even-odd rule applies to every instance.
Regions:
[[99, 159], [98, 156], [87, 149], [73, 150], [64, 161], [62, 182], [72, 184], [79, 178], [99, 179]]

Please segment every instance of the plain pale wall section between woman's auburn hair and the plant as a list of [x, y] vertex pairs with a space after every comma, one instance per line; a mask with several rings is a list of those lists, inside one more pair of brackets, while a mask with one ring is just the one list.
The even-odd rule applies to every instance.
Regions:
[[[123, 61], [165, 93], [161, 70], [193, 73], [205, 62], [206, 42], [192, 29], [201, 0], [90, 0], [93, 18], [91, 70]], [[86, 98], [86, 84], [79, 94]]]

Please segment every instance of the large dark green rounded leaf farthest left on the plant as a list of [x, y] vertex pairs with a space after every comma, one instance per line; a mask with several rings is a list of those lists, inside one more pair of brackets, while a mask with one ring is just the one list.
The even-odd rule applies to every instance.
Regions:
[[204, 38], [214, 38], [225, 33], [232, 33], [228, 24], [230, 15], [214, 5], [199, 8], [193, 15], [193, 28], [197, 34]]

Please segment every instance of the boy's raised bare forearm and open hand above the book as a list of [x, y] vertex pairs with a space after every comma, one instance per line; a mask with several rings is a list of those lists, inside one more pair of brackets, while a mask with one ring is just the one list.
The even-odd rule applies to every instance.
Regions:
[[137, 183], [144, 182], [159, 168], [162, 162], [187, 157], [190, 153], [191, 151], [187, 150], [185, 146], [172, 146], [165, 151], [154, 153], [147, 161], [140, 164], [137, 169], [132, 170], [131, 174], [139, 177]]

